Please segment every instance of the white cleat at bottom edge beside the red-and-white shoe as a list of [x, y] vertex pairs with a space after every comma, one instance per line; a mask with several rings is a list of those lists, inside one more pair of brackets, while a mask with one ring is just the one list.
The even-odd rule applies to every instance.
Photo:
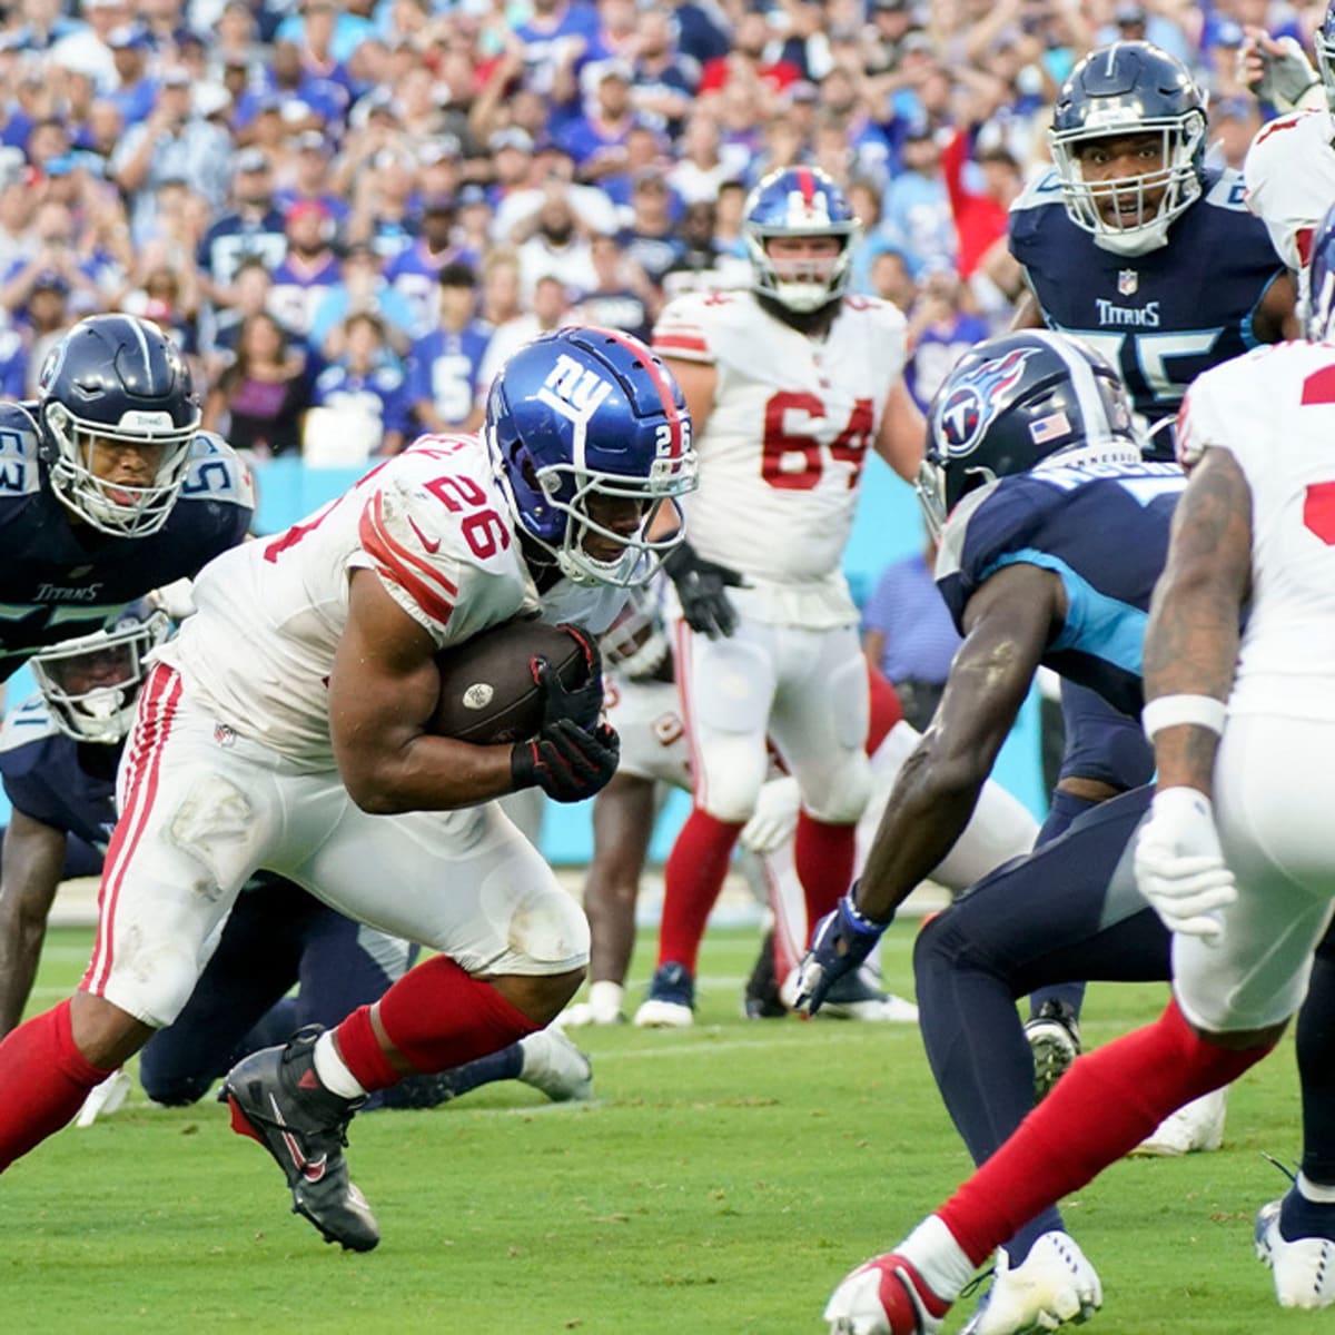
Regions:
[[1039, 1335], [1087, 1322], [1103, 1304], [1103, 1284], [1069, 1234], [1053, 1230], [1011, 1270], [1004, 1251], [987, 1300], [960, 1335]]

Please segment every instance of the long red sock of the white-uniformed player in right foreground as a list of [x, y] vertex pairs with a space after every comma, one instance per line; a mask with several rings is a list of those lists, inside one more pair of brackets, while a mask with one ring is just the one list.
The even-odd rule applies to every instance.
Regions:
[[1204, 1043], [1169, 1001], [1153, 1024], [1077, 1059], [937, 1215], [981, 1266], [1040, 1210], [1135, 1149], [1168, 1113], [1236, 1080], [1270, 1051]]

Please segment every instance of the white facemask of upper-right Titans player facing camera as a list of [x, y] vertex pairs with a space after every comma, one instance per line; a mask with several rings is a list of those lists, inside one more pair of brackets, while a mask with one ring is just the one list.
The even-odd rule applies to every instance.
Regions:
[[[1067, 216], [1093, 236], [1101, 250], [1135, 258], [1167, 244], [1172, 222], [1200, 198], [1206, 117], [1193, 109], [1163, 120], [1140, 120], [1132, 119], [1124, 107], [1109, 109], [1117, 115], [1091, 115], [1076, 129], [1049, 131], [1048, 139], [1061, 176]], [[1081, 147], [1101, 139], [1149, 134], [1160, 136], [1160, 167], [1136, 176], [1084, 179]], [[1160, 190], [1157, 204], [1148, 203], [1147, 196]], [[1116, 208], [1112, 220], [1100, 208], [1109, 200]]]

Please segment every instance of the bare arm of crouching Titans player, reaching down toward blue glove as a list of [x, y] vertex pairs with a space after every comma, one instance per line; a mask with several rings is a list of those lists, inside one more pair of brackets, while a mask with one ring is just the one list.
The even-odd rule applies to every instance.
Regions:
[[865, 917], [886, 921], [968, 825], [1064, 615], [1060, 578], [1039, 566], [1008, 566], [969, 599], [941, 705], [900, 772], [858, 880]]

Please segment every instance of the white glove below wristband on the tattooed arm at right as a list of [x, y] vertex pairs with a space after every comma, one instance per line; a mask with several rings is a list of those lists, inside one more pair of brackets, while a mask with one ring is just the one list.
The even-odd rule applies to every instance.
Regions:
[[1214, 944], [1223, 933], [1219, 909], [1238, 898], [1224, 865], [1215, 810], [1195, 788], [1155, 793], [1136, 838], [1136, 885], [1169, 932]]

